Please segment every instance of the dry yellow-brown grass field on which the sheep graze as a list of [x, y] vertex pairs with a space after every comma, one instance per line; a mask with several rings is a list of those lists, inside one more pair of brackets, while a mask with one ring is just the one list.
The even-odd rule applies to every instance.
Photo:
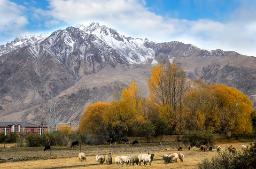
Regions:
[[[163, 148], [169, 148], [170, 151], [163, 151], [160, 144], [149, 143], [149, 144], [139, 144], [139, 146], [130, 146], [124, 144], [118, 144], [116, 146], [81, 146], [82, 152], [87, 154], [86, 161], [78, 161], [78, 154], [80, 153], [80, 147], [70, 148], [64, 146], [56, 146], [52, 148], [52, 151], [44, 152], [44, 147], [23, 147], [23, 148], [0, 148], [0, 159], [3, 161], [0, 163], [0, 169], [81, 169], [86, 167], [87, 169], [195, 169], [198, 162], [202, 161], [204, 158], [211, 158], [217, 153], [215, 147], [221, 146], [222, 150], [227, 148], [227, 146], [233, 145], [236, 149], [241, 151], [240, 145], [247, 145], [248, 143], [240, 143], [238, 141], [228, 141], [225, 139], [218, 139], [216, 145], [212, 152], [208, 150], [206, 152], [201, 152], [199, 147], [196, 151], [183, 148], [182, 151], [177, 151], [175, 148], [175, 143], [165, 142], [163, 143]], [[176, 145], [177, 146], [177, 145]], [[127, 148], [127, 149], [126, 149]], [[95, 159], [97, 154], [109, 154], [112, 152], [112, 165], [107, 165], [106, 162], [103, 164], [98, 164]], [[125, 151], [126, 149], [126, 151]], [[125, 152], [124, 152], [125, 151]], [[130, 154], [155, 154], [155, 157], [151, 163], [147, 166], [116, 166], [115, 157], [117, 155], [130, 155]], [[132, 153], [133, 152], [133, 153]], [[177, 152], [185, 155], [184, 162], [175, 163], [164, 163], [163, 154], [173, 154]]]

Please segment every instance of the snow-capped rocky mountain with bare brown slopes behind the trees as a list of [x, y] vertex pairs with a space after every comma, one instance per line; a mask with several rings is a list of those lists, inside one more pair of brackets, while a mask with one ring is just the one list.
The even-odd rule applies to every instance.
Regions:
[[126, 38], [92, 23], [0, 46], [1, 121], [39, 124], [42, 117], [48, 117], [46, 107], [54, 92], [61, 107], [57, 122], [77, 126], [88, 104], [112, 101], [116, 83], [126, 86], [135, 78], [143, 96], [147, 96], [147, 78], [159, 59], [176, 59], [189, 78], [235, 87], [256, 101], [255, 57], [220, 49], [202, 50], [176, 41]]

